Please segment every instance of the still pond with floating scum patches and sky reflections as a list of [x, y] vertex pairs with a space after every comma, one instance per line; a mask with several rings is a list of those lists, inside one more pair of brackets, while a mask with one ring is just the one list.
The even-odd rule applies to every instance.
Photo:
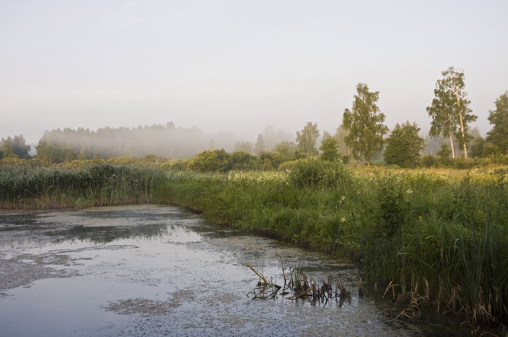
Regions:
[[[281, 265], [281, 261], [282, 264]], [[303, 263], [340, 276], [350, 301], [253, 299]], [[294, 269], [293, 269], [294, 270]], [[0, 212], [2, 336], [462, 335], [441, 317], [396, 318], [357, 266], [276, 240], [217, 228], [161, 205]], [[399, 310], [399, 312], [397, 312]]]

